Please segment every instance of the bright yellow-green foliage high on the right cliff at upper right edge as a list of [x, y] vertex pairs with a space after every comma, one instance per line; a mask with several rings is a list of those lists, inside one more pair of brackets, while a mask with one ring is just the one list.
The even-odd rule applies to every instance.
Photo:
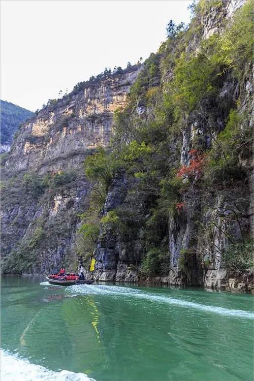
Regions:
[[[220, 5], [221, 1], [199, 3], [201, 9]], [[242, 78], [246, 64], [252, 63], [253, 15], [253, 3], [248, 1], [222, 35], [203, 41], [198, 53], [183, 51], [176, 59], [171, 86], [176, 118], [194, 110], [201, 100], [214, 100], [226, 71], [233, 69]]]

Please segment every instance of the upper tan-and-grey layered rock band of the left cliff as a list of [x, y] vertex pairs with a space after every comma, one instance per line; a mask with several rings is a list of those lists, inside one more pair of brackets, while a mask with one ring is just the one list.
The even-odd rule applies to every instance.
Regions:
[[89, 150], [108, 145], [113, 113], [124, 106], [139, 70], [137, 65], [123, 74], [88, 82], [39, 111], [22, 126], [5, 169], [41, 174], [76, 168]]

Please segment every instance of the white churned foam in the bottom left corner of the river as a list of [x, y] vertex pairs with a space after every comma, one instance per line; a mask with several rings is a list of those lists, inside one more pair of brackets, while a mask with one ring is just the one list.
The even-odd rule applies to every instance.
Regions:
[[94, 381], [84, 373], [55, 372], [1, 350], [1, 381]]

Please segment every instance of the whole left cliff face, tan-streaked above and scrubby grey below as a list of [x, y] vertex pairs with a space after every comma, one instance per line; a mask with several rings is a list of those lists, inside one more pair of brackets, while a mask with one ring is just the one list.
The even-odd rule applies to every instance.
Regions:
[[136, 65], [86, 82], [19, 129], [2, 168], [1, 255], [4, 262], [13, 258], [7, 273], [73, 268], [78, 214], [89, 205], [84, 158], [109, 144], [114, 110], [124, 106], [140, 70]]

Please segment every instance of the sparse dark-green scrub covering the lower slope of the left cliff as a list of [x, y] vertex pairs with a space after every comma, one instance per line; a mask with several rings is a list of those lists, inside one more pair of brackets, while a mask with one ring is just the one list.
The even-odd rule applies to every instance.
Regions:
[[[29, 172], [2, 179], [1, 196], [5, 201], [5, 207], [10, 209], [17, 205], [19, 209], [16, 218], [9, 224], [8, 232], [5, 234], [2, 231], [3, 273], [22, 274], [37, 271], [43, 252], [47, 252], [49, 256], [50, 252], [54, 249], [59, 250], [59, 246], [63, 246], [69, 239], [70, 232], [78, 223], [77, 213], [72, 210], [74, 200], [70, 198], [66, 207], [57, 214], [54, 209], [57, 208], [57, 200], [61, 199], [62, 194], [73, 193], [77, 175], [75, 171], [46, 175]], [[32, 223], [29, 223], [24, 215], [33, 214], [35, 210], [39, 212]], [[26, 232], [22, 239], [18, 237], [20, 229]], [[9, 255], [5, 256], [10, 240], [16, 244]]]

